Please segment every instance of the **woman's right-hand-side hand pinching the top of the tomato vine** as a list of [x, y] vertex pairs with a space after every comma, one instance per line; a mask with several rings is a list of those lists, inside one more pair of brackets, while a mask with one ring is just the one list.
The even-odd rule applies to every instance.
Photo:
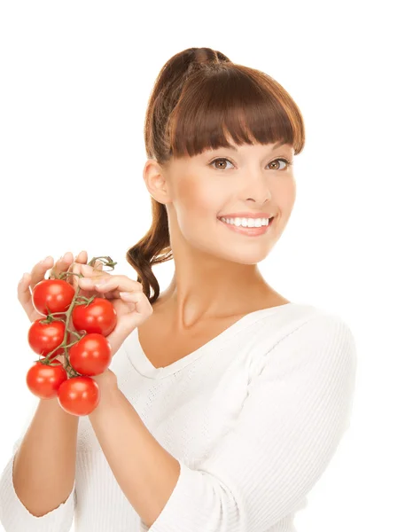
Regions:
[[[106, 337], [114, 355], [129, 334], [152, 315], [153, 309], [143, 292], [143, 286], [125, 275], [112, 275], [107, 271], [93, 270], [88, 264], [80, 266], [84, 278], [79, 278], [83, 290], [94, 290], [100, 297], [110, 300], [117, 314], [116, 326]], [[105, 281], [105, 284], [99, 285]]]

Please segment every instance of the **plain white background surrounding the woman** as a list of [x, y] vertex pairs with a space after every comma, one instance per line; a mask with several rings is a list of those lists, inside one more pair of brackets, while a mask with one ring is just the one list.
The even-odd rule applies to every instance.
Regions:
[[[110, 255], [151, 224], [144, 113], [160, 67], [210, 47], [270, 74], [303, 113], [297, 200], [260, 263], [291, 301], [337, 312], [358, 348], [351, 427], [296, 516], [300, 532], [411, 521], [413, 88], [408, 3], [0, 4], [0, 227], [4, 466], [30, 404], [25, 271], [66, 251]], [[410, 49], [410, 52], [409, 52]], [[160, 289], [173, 262], [154, 269]], [[1, 527], [0, 527], [1, 528]]]

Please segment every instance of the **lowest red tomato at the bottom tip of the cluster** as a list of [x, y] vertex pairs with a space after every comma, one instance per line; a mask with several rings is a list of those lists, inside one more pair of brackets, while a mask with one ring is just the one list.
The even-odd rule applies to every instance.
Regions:
[[97, 382], [90, 377], [67, 379], [58, 388], [58, 403], [64, 411], [74, 416], [87, 416], [100, 401]]

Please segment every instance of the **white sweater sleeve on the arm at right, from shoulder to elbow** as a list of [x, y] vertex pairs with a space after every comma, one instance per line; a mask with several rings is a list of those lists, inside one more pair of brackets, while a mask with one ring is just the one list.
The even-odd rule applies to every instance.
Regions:
[[270, 348], [237, 423], [181, 472], [150, 532], [263, 532], [300, 509], [349, 426], [355, 339], [322, 315]]

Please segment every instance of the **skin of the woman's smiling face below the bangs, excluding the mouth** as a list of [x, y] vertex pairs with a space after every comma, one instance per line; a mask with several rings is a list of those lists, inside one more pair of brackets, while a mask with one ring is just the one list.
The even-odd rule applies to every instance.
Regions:
[[[231, 262], [261, 262], [280, 238], [296, 196], [291, 145], [241, 145], [172, 160], [164, 171], [171, 245], [180, 240]], [[152, 191], [151, 191], [152, 192]], [[222, 223], [222, 215], [268, 213], [267, 231], [247, 236]]]

